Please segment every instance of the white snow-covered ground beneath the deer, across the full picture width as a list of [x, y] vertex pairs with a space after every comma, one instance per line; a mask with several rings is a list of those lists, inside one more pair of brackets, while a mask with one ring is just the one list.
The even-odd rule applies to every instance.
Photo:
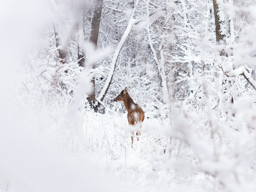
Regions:
[[172, 108], [172, 123], [146, 112], [132, 148], [126, 113], [50, 112], [10, 95], [1, 100], [1, 192], [254, 191], [252, 98], [236, 101], [236, 124], [211, 112], [208, 124], [188, 106]]

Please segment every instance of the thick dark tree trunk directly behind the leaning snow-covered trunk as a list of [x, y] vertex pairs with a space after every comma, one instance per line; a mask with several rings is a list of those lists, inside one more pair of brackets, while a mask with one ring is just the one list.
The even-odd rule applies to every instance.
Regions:
[[[91, 27], [91, 34], [90, 34], [90, 42], [92, 42], [92, 44], [95, 46], [95, 49], [97, 47], [97, 42], [98, 42], [102, 4], [103, 4], [103, 0], [95, 0], [95, 8], [94, 8], [93, 17], [92, 17], [92, 27]], [[92, 68], [95, 68], [95, 66], [96, 66], [95, 63], [92, 64]], [[96, 98], [95, 98], [95, 78], [94, 77], [91, 80], [91, 84], [92, 84], [92, 91], [88, 95], [87, 100], [90, 104], [90, 107], [94, 109], [94, 112], [97, 112], [98, 106], [95, 105]]]

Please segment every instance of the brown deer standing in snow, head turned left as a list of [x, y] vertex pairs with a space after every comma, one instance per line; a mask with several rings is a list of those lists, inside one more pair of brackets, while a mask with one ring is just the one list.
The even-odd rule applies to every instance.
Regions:
[[[139, 124], [140, 128], [142, 127], [142, 122], [144, 121], [144, 112], [138, 104], [134, 103], [131, 96], [128, 94], [127, 87], [124, 90], [122, 90], [121, 93], [116, 98], [114, 98], [114, 101], [123, 102], [126, 110], [128, 111], [127, 118], [128, 118], [129, 125], [136, 126], [137, 124]], [[132, 131], [132, 136], [131, 136], [132, 144], [133, 144], [133, 135], [134, 135], [134, 132]], [[136, 135], [137, 135], [137, 140], [139, 140], [138, 136], [140, 136], [140, 131], [136, 132]]]

